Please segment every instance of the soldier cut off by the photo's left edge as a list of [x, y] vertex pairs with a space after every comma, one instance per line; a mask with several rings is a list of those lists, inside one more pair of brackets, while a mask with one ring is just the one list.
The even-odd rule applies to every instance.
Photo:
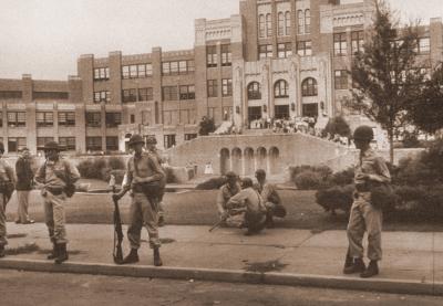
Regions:
[[16, 183], [13, 169], [2, 158], [3, 154], [4, 146], [0, 143], [0, 258], [4, 257], [4, 245], [8, 244], [6, 210]]

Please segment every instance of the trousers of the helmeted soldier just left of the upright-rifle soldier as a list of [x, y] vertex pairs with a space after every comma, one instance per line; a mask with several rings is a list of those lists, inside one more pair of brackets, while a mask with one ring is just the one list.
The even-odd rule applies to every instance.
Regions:
[[54, 196], [47, 191], [45, 196], [43, 196], [43, 201], [44, 221], [48, 226], [51, 242], [56, 244], [68, 243], [65, 228], [66, 218], [64, 212], [66, 194], [62, 193]]

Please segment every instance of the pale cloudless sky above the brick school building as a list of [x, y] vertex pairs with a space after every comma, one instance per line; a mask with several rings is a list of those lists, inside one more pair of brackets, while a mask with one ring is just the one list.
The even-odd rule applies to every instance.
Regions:
[[[442, 0], [389, 1], [404, 19], [443, 17]], [[0, 0], [0, 78], [66, 80], [81, 54], [192, 49], [195, 19], [228, 18], [238, 7], [239, 0]]]

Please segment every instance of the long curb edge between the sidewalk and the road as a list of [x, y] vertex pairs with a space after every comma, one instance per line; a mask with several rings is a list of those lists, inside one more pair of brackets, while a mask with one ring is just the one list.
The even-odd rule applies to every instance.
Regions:
[[48, 261], [0, 260], [0, 268], [73, 273], [105, 276], [150, 277], [172, 279], [196, 279], [210, 282], [307, 286], [333, 289], [369, 291], [393, 294], [443, 296], [443, 283], [421, 283], [399, 279], [362, 279], [339, 276], [322, 276], [289, 273], [257, 273], [240, 270], [154, 267], [146, 265], [113, 265], [66, 262], [55, 265]]

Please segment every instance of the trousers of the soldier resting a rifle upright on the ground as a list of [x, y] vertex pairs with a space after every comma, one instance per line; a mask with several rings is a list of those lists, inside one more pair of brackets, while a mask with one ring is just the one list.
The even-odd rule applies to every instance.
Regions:
[[157, 204], [151, 203], [144, 193], [134, 192], [130, 209], [127, 239], [131, 249], [140, 249], [143, 225], [150, 235], [150, 246], [159, 247]]

